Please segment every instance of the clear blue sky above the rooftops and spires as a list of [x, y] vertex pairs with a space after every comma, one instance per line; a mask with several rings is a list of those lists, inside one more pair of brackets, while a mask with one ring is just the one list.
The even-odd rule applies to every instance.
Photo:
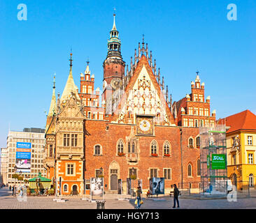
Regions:
[[[27, 21], [17, 20], [20, 3], [27, 5]], [[236, 21], [227, 20], [229, 3], [237, 6]], [[114, 7], [123, 59], [129, 64], [144, 34], [173, 101], [190, 93], [199, 70], [217, 118], [245, 109], [256, 113], [254, 0], [1, 0], [1, 147], [9, 125], [10, 130], [45, 127], [53, 74], [62, 94], [71, 47], [76, 85], [89, 56], [95, 87], [102, 88]]]

